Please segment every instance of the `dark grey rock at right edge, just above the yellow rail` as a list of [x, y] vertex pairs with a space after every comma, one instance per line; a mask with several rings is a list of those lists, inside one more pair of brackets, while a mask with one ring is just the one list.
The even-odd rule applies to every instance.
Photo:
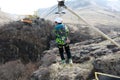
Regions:
[[94, 61], [94, 68], [97, 72], [120, 76], [120, 52], [109, 54]]

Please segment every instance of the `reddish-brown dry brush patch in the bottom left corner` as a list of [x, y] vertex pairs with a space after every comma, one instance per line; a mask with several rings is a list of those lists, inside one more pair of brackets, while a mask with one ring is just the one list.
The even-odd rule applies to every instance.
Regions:
[[0, 66], [0, 80], [30, 80], [37, 69], [36, 64], [22, 64], [20, 60], [10, 61]]

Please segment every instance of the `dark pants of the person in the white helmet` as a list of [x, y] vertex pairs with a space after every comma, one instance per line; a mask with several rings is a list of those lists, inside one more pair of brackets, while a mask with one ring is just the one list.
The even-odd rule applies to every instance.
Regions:
[[70, 52], [70, 47], [68, 44], [66, 45], [58, 45], [58, 48], [59, 48], [59, 53], [60, 53], [60, 57], [62, 60], [65, 60], [65, 57], [64, 57], [64, 50], [67, 54], [67, 59], [71, 59], [71, 52]]

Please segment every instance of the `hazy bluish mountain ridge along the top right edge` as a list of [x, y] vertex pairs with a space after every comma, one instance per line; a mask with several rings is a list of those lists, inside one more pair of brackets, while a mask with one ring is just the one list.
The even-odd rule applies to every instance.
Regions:
[[[71, 5], [71, 4], [72, 5]], [[120, 11], [120, 1], [110, 1], [110, 0], [71, 0], [66, 2], [66, 5], [70, 6], [73, 9], [83, 8], [89, 5], [98, 5], [104, 7], [105, 10], [111, 12], [119, 12]]]

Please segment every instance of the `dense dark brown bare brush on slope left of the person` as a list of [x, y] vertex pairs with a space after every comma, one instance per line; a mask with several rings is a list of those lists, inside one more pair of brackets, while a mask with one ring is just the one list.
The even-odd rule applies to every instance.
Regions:
[[0, 27], [0, 63], [20, 59], [23, 63], [35, 62], [42, 52], [49, 49], [50, 21], [39, 25], [11, 22]]

